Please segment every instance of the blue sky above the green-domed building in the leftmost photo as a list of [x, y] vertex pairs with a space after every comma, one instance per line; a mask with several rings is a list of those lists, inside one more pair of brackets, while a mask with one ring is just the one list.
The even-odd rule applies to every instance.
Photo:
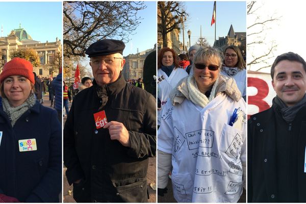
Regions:
[[[11, 30], [25, 29], [40, 42], [62, 42], [62, 2], [0, 2], [0, 26], [3, 37]], [[1, 34], [0, 34], [1, 35]]]

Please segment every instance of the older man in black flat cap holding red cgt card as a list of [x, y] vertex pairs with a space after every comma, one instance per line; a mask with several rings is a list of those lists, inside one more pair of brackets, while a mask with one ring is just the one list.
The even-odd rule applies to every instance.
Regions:
[[148, 158], [156, 154], [156, 100], [121, 74], [125, 45], [86, 50], [93, 86], [75, 96], [64, 127], [64, 164], [77, 202], [147, 202]]

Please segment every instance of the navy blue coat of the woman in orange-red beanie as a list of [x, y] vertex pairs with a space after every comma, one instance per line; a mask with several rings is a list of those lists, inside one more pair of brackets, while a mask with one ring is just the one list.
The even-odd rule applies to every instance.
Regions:
[[[57, 112], [38, 102], [12, 127], [0, 105], [0, 193], [21, 202], [58, 202], [62, 189], [62, 137]], [[36, 139], [37, 150], [19, 151]]]

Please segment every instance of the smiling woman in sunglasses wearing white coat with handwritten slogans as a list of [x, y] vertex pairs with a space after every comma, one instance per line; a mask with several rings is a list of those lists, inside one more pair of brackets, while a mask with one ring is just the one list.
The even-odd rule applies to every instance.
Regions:
[[[193, 75], [170, 93], [158, 130], [158, 188], [172, 169], [177, 202], [237, 202], [246, 160], [246, 104], [235, 80], [221, 75], [217, 49], [201, 47]], [[172, 163], [171, 163], [172, 160]]]

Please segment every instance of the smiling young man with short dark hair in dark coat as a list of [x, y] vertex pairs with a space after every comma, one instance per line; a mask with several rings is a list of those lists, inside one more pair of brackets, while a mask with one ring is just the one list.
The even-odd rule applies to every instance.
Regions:
[[248, 202], [306, 202], [306, 63], [278, 56], [272, 107], [248, 120]]

